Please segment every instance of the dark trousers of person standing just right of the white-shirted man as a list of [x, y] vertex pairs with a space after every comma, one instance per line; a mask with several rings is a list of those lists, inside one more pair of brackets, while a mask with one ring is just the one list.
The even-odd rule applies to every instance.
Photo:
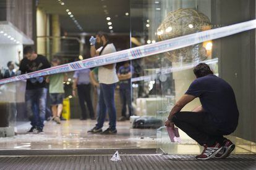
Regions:
[[122, 116], [126, 117], [126, 105], [128, 105], [129, 116], [132, 116], [132, 98], [130, 89], [120, 89], [119, 91], [122, 102]]

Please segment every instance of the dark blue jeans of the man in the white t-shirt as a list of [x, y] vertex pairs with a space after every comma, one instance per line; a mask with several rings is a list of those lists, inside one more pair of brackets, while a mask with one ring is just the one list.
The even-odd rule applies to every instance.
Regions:
[[109, 128], [111, 130], [116, 129], [116, 106], [114, 103], [114, 89], [116, 89], [116, 83], [114, 84], [102, 84], [100, 83], [100, 115], [97, 119], [96, 127], [101, 128], [105, 122], [106, 111], [108, 110], [109, 116]]

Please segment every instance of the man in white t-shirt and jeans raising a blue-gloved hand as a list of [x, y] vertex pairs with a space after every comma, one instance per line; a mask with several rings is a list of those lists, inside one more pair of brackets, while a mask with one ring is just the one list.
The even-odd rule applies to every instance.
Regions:
[[[113, 43], [108, 41], [108, 35], [103, 32], [98, 32], [96, 38], [93, 36], [90, 38], [91, 49], [90, 54], [92, 57], [98, 55], [109, 54], [111, 52], [116, 52], [116, 48]], [[102, 46], [96, 50], [95, 44], [101, 44]], [[98, 79], [100, 83], [100, 99], [99, 99], [99, 116], [97, 119], [97, 124], [90, 133], [100, 133], [100, 134], [116, 134], [116, 106], [114, 103], [114, 91], [116, 88], [116, 83], [119, 81], [116, 74], [116, 64], [109, 64], [99, 67]], [[102, 132], [102, 127], [105, 122], [106, 112], [108, 111], [109, 116], [109, 127], [104, 132]]]

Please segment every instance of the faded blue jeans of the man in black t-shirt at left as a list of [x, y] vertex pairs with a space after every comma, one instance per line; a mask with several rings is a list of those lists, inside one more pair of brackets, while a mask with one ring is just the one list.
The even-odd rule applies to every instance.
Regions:
[[27, 90], [25, 94], [27, 113], [30, 117], [31, 125], [38, 129], [43, 129], [45, 121], [47, 89]]

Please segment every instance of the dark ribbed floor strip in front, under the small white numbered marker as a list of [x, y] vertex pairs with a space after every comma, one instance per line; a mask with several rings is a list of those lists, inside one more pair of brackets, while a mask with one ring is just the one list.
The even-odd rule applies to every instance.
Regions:
[[226, 159], [195, 160], [195, 155], [111, 155], [0, 157], [0, 169], [256, 169], [256, 155], [231, 155]]

